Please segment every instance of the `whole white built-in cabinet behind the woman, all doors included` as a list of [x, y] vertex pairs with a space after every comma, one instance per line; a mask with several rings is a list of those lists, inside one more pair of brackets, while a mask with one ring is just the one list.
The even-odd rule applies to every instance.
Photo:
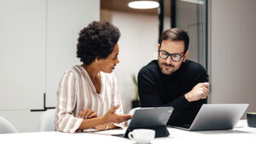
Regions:
[[44, 93], [55, 107], [63, 72], [80, 64], [79, 31], [99, 19], [99, 0], [0, 0], [0, 116], [37, 131], [30, 110], [44, 109]]

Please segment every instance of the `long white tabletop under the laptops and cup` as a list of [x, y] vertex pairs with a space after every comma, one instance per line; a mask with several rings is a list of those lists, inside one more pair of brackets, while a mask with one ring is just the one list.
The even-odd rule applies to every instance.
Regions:
[[[170, 136], [164, 138], [156, 138], [153, 144], [256, 144], [256, 128], [247, 127], [246, 121], [241, 120], [234, 130], [213, 130], [213, 131], [197, 131], [190, 132], [185, 130], [177, 130], [168, 128]], [[27, 143], [27, 144], [50, 144], [50, 143], [67, 143], [67, 144], [89, 144], [89, 143], [111, 143], [125, 144], [135, 143], [125, 138], [112, 136], [124, 130], [107, 130], [96, 133], [77, 133], [67, 134], [61, 132], [34, 132], [20, 134], [2, 134], [0, 135], [0, 143]]]

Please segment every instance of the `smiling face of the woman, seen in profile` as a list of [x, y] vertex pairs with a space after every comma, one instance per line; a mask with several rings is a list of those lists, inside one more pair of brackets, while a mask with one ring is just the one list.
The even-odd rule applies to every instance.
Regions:
[[101, 72], [111, 73], [113, 72], [114, 66], [119, 63], [119, 44], [116, 43], [113, 47], [113, 51], [106, 59], [99, 59], [98, 66]]

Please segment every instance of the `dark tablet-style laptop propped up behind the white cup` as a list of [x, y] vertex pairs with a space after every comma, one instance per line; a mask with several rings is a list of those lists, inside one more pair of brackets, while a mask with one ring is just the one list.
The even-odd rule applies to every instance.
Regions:
[[147, 107], [137, 109], [129, 123], [125, 134], [115, 135], [128, 138], [128, 134], [135, 129], [155, 130], [155, 137], [170, 135], [166, 129], [168, 119], [171, 117], [173, 107]]

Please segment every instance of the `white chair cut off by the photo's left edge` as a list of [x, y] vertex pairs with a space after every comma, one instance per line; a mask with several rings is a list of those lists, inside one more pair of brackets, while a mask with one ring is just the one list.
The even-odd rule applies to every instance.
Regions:
[[0, 117], [0, 134], [17, 133], [13, 124], [10, 124], [8, 120]]

